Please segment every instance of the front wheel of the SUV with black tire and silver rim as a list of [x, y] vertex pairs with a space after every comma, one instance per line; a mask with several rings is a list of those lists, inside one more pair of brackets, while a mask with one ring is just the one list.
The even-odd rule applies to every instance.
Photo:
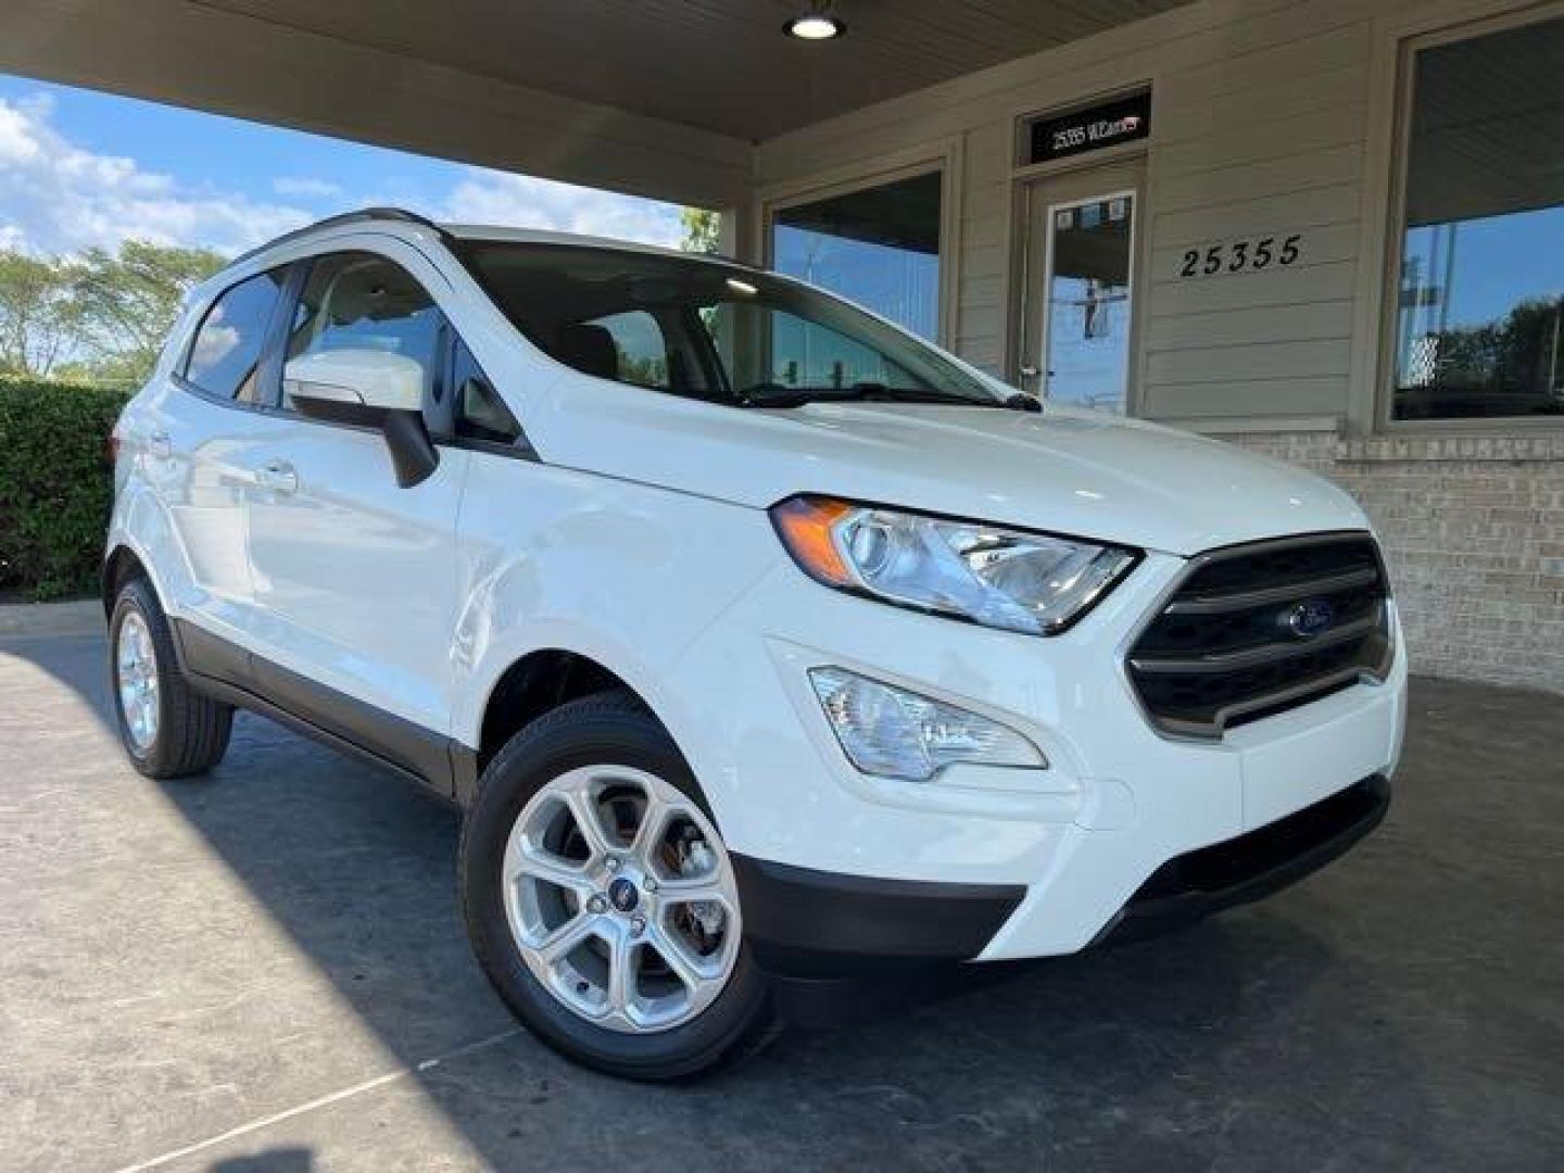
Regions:
[[677, 1079], [769, 1037], [727, 849], [629, 693], [565, 704], [496, 754], [463, 827], [461, 895], [496, 992], [580, 1064]]

